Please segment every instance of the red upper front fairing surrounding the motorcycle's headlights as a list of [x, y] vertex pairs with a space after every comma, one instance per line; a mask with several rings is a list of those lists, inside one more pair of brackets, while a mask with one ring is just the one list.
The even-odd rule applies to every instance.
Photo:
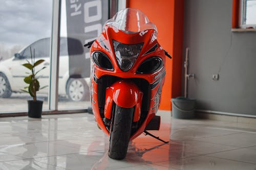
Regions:
[[[122, 31], [118, 31], [115, 28], [109, 26], [104, 29], [102, 34], [96, 39], [96, 41], [92, 44], [91, 47], [91, 53], [95, 51], [103, 52], [104, 54], [108, 55], [111, 62], [113, 63], [114, 71], [111, 70], [104, 70], [100, 67], [95, 66], [96, 72], [95, 76], [97, 78], [100, 78], [104, 75], [112, 75], [117, 76], [121, 78], [142, 78], [146, 79], [149, 83], [155, 82], [155, 76], [158, 75], [160, 72], [154, 72], [152, 74], [136, 74], [136, 70], [138, 66], [146, 59], [153, 56], [162, 56], [162, 60], [165, 62], [164, 52], [162, 49], [160, 49], [160, 45], [155, 40], [152, 42], [152, 36], [154, 35], [154, 30], [147, 30], [146, 33], [141, 36], [140, 33], [135, 34], [125, 34]], [[117, 59], [115, 57], [115, 51], [113, 46], [113, 40], [119, 41], [124, 44], [138, 44], [138, 43], [144, 43], [141, 53], [138, 56], [135, 64], [129, 71], [122, 71], [118, 64]], [[110, 43], [111, 42], [111, 43]], [[102, 46], [104, 44], [104, 46]], [[154, 45], [158, 45], [158, 48], [154, 53], [150, 53], [148, 55], [143, 55], [148, 50], [150, 50]]]

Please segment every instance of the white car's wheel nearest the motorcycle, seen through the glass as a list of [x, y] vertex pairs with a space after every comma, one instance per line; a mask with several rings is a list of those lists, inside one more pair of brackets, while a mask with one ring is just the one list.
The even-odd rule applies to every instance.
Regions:
[[67, 84], [67, 94], [69, 99], [75, 102], [90, 100], [90, 90], [83, 79], [69, 79]]

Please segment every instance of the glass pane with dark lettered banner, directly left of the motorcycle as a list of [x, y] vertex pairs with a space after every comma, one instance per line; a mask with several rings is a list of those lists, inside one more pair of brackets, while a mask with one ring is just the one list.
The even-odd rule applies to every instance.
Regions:
[[[68, 3], [68, 4], [66, 4]], [[109, 16], [109, 1], [61, 1], [58, 109], [84, 109], [90, 103], [90, 52]]]

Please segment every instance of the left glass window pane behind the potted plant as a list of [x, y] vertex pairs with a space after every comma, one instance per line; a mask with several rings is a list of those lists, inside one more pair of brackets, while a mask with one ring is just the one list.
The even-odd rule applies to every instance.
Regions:
[[[0, 6], [0, 107], [1, 113], [27, 112], [27, 100], [32, 97], [21, 89], [28, 86], [24, 78], [27, 68], [22, 66], [30, 59], [30, 49], [35, 57], [47, 60], [40, 66], [48, 68], [40, 72], [40, 86], [49, 85], [50, 36], [52, 28], [52, 0], [2, 1]], [[16, 55], [14, 55], [16, 54]], [[19, 55], [18, 55], [19, 54]], [[16, 57], [15, 57], [16, 56]], [[24, 56], [24, 57], [21, 57]], [[30, 61], [30, 60], [29, 60]], [[36, 70], [40, 69], [36, 67]], [[39, 90], [37, 100], [44, 101], [48, 110], [48, 91]]]

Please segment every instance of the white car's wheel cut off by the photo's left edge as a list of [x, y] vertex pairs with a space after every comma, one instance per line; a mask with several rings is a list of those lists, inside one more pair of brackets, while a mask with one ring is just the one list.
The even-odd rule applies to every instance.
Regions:
[[7, 77], [0, 72], [0, 98], [10, 98], [12, 94], [10, 83]]

